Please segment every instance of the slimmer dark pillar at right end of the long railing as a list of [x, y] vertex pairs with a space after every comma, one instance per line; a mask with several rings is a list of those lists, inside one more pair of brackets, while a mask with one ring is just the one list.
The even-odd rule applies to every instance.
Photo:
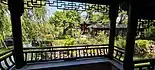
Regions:
[[115, 29], [116, 29], [116, 18], [118, 16], [118, 4], [111, 4], [109, 10], [110, 18], [110, 37], [109, 37], [109, 53], [108, 57], [113, 59], [114, 53], [114, 40], [115, 40]]

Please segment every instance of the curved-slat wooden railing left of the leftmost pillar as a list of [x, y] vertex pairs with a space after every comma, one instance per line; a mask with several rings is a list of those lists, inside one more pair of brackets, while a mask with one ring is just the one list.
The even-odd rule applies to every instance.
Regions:
[[0, 70], [11, 70], [15, 66], [13, 50], [8, 50], [0, 54]]

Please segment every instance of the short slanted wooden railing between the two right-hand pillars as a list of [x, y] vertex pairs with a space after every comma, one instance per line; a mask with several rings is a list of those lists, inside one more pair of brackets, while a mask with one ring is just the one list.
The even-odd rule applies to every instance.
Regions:
[[117, 46], [114, 47], [114, 60], [117, 60], [123, 63], [125, 51], [123, 48], [119, 48]]

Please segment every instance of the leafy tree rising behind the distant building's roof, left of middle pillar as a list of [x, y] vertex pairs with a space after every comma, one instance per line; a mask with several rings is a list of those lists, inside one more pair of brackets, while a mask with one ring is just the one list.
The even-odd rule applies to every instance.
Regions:
[[106, 5], [100, 5], [102, 9], [99, 9], [99, 5], [90, 5], [87, 9], [86, 19], [92, 23], [106, 24], [109, 22], [109, 12]]

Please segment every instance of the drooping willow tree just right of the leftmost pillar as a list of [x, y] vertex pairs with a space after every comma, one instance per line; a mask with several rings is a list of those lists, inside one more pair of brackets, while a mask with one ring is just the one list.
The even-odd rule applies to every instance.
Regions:
[[22, 17], [23, 40], [41, 37], [47, 31], [44, 30], [46, 19], [46, 10], [43, 8], [34, 8], [25, 10]]

